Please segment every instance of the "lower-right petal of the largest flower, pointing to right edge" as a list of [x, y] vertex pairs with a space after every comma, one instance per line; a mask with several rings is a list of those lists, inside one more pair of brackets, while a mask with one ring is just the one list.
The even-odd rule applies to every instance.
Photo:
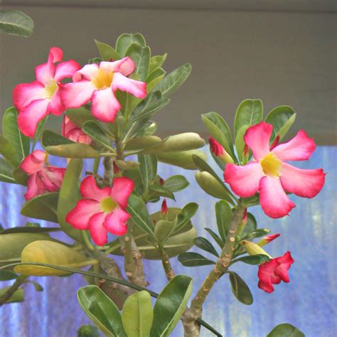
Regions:
[[323, 169], [303, 170], [283, 163], [280, 179], [285, 191], [304, 198], [314, 198], [323, 188], [326, 174]]

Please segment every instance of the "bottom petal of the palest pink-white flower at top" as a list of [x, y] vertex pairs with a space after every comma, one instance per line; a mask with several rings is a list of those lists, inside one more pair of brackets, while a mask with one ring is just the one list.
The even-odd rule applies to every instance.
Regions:
[[121, 105], [114, 96], [111, 87], [95, 90], [91, 100], [91, 114], [102, 122], [113, 123]]

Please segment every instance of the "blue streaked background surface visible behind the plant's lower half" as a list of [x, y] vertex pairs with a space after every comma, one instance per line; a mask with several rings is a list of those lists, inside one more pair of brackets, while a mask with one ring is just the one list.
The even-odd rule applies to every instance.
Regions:
[[[336, 146], [319, 146], [308, 162], [296, 164], [301, 168], [323, 167], [328, 175], [323, 191], [316, 198], [308, 200], [291, 196], [296, 208], [289, 217], [272, 220], [262, 213], [260, 207], [252, 208], [258, 227], [281, 233], [281, 237], [267, 246], [269, 254], [277, 257], [290, 250], [295, 263], [289, 272], [290, 283], [275, 286], [272, 294], [257, 288], [256, 266], [235, 264], [232, 269], [245, 279], [254, 296], [251, 306], [240, 304], [235, 299], [227, 277], [220, 279], [205, 303], [203, 319], [225, 336], [266, 336], [274, 326], [286, 322], [299, 327], [308, 337], [336, 336], [336, 155]], [[65, 162], [58, 159], [54, 164], [62, 166]], [[90, 170], [90, 165], [91, 162], [87, 161], [85, 169]], [[198, 203], [200, 208], [193, 224], [198, 228], [198, 235], [208, 237], [203, 228], [216, 228], [216, 199], [200, 191], [193, 171], [160, 164], [159, 174], [163, 178], [186, 175], [191, 185], [176, 193], [176, 205], [180, 207], [191, 201]], [[31, 220], [20, 215], [24, 190], [21, 186], [0, 183], [0, 222], [5, 228], [24, 225]], [[150, 211], [159, 210], [159, 207], [159, 203], [150, 205]], [[40, 223], [41, 226], [55, 225]], [[145, 261], [144, 264], [149, 288], [160, 291], [166, 284], [161, 262]], [[176, 274], [193, 277], [193, 294], [211, 268], [186, 268], [176, 258], [172, 259], [172, 264]], [[76, 291], [86, 284], [80, 275], [33, 279], [42, 284], [44, 291], [36, 292], [32, 285], [27, 285], [23, 303], [0, 308], [1, 337], [76, 336], [77, 328], [90, 323], [77, 304]], [[7, 283], [10, 282], [3, 282], [1, 287]], [[172, 336], [183, 336], [181, 323]], [[212, 334], [203, 330], [201, 336]]]

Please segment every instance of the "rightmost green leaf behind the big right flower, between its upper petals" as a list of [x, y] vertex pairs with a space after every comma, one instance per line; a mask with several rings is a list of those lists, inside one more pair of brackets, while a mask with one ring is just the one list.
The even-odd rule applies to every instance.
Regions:
[[295, 119], [296, 113], [294, 109], [287, 105], [281, 105], [272, 109], [265, 119], [273, 127], [270, 141], [273, 141], [277, 136], [281, 140], [287, 134], [291, 125], [294, 124]]

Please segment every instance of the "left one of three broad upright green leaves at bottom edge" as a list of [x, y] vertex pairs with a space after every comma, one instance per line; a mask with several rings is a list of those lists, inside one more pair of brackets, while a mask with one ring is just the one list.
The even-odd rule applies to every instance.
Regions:
[[77, 300], [85, 314], [105, 336], [127, 337], [119, 309], [100, 288], [94, 285], [80, 288]]

